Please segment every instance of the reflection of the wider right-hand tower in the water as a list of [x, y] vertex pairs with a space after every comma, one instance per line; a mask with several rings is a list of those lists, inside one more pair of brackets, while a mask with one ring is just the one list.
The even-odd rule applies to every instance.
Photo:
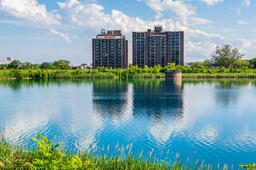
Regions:
[[[181, 80], [134, 80], [134, 117], [148, 121], [148, 131], [159, 143], [184, 125]], [[151, 138], [149, 136], [148, 138]]]

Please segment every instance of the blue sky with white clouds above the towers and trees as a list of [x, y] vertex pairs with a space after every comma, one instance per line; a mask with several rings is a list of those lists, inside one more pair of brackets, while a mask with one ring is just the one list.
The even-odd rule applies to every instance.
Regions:
[[162, 24], [184, 31], [184, 62], [211, 59], [216, 46], [256, 57], [255, 0], [0, 0], [0, 60], [70, 60], [92, 63], [92, 38], [100, 29], [132, 31]]

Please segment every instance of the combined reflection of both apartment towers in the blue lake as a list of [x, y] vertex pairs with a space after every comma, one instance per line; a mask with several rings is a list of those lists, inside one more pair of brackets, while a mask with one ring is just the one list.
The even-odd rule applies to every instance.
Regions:
[[[141, 138], [148, 136], [148, 132], [142, 131], [149, 131], [157, 141], [167, 141], [172, 129], [180, 129], [184, 124], [183, 112], [182, 81], [132, 79], [93, 82], [93, 113], [109, 118], [115, 127], [134, 119], [131, 128], [137, 129]], [[145, 125], [144, 129], [134, 124], [136, 120]], [[134, 134], [127, 136], [136, 138]]]

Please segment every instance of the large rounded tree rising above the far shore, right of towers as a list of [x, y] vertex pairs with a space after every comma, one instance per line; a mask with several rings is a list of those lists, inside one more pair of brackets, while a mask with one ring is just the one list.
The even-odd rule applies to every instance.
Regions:
[[230, 67], [236, 60], [241, 60], [244, 55], [239, 52], [238, 48], [232, 49], [232, 46], [216, 46], [212, 54], [212, 60], [216, 66]]

